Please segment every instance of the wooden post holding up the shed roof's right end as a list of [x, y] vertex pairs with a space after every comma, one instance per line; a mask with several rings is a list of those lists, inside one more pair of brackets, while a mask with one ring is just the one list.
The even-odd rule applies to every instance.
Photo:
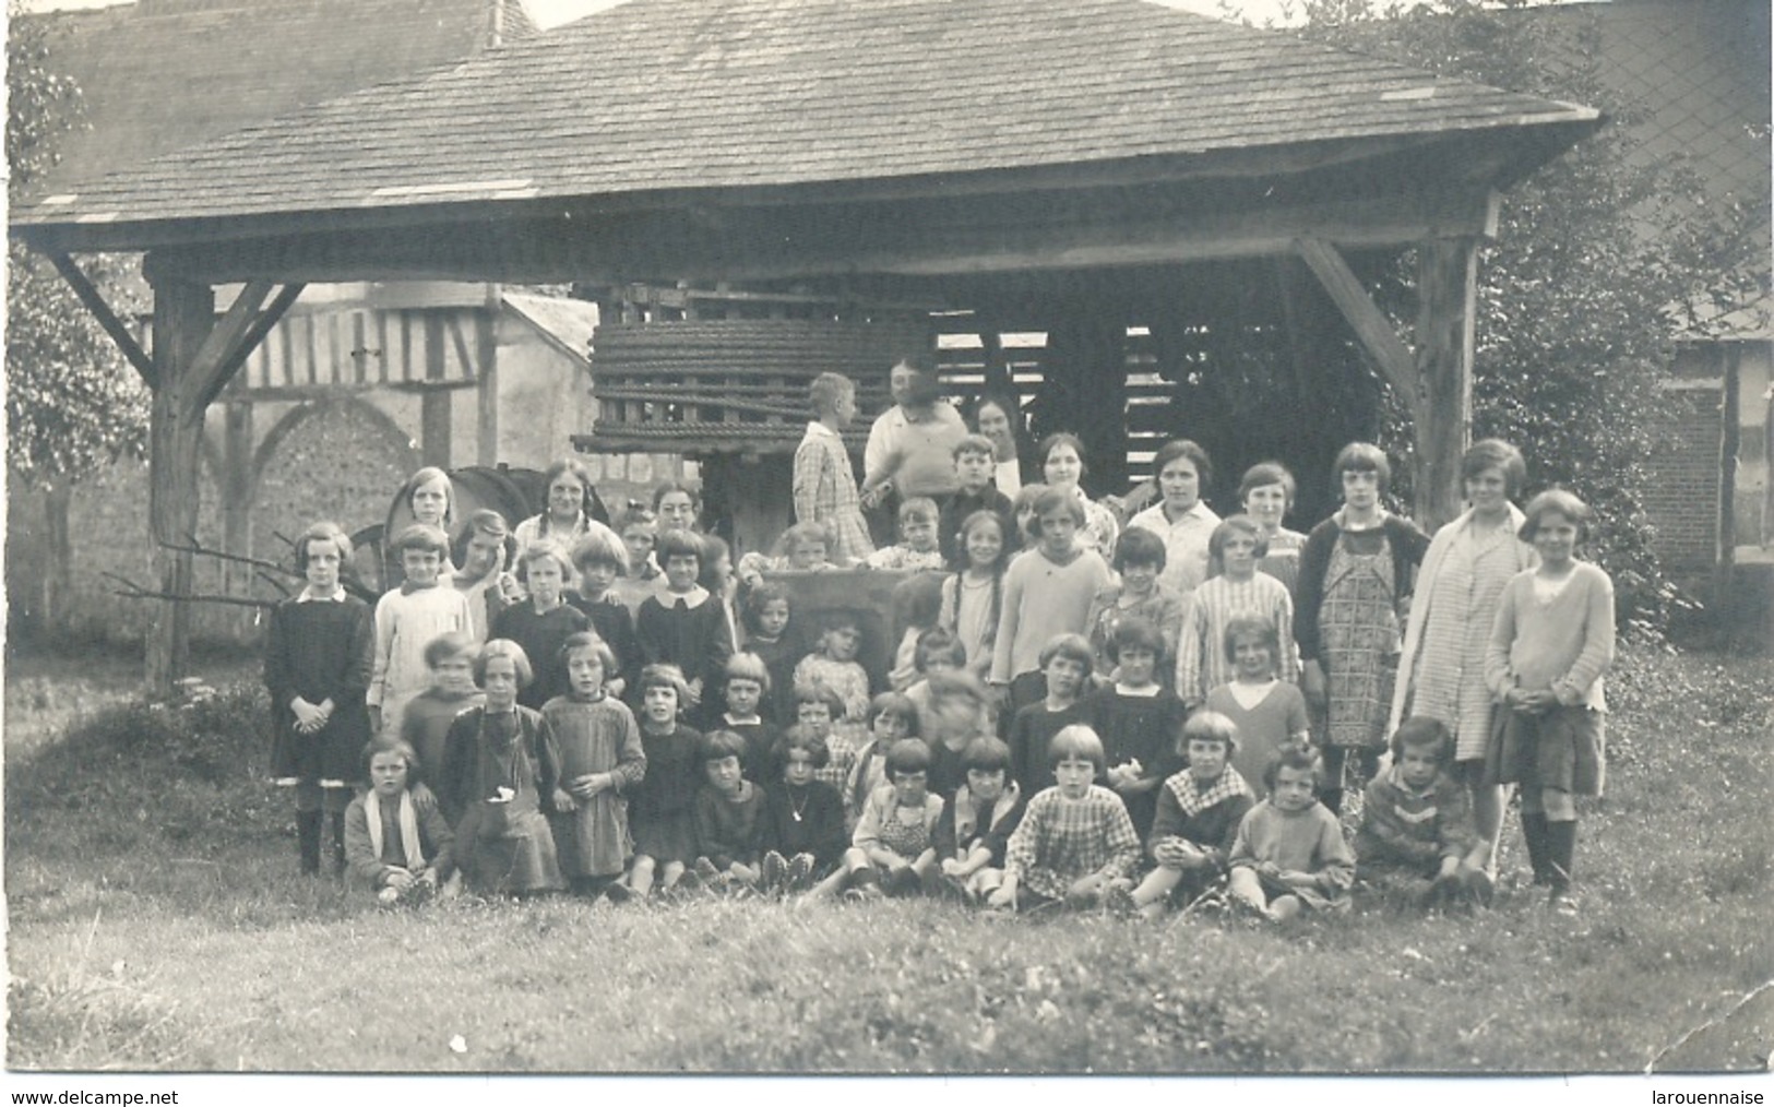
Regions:
[[1416, 518], [1430, 532], [1460, 514], [1460, 459], [1472, 442], [1472, 326], [1478, 239], [1433, 238], [1417, 247]]

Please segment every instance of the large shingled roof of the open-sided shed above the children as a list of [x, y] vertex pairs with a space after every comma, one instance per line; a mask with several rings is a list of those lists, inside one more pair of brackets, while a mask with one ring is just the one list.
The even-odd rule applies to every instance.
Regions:
[[633, 0], [14, 222], [850, 183], [1593, 117], [1144, 0]]

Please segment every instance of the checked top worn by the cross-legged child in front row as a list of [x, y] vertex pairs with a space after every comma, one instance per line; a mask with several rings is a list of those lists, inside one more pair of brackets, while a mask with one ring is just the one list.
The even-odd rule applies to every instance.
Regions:
[[1050, 899], [1063, 899], [1082, 876], [1105, 868], [1125, 876], [1137, 862], [1134, 820], [1121, 797], [1098, 784], [1080, 800], [1068, 800], [1059, 788], [1029, 800], [1004, 852], [1006, 876]]

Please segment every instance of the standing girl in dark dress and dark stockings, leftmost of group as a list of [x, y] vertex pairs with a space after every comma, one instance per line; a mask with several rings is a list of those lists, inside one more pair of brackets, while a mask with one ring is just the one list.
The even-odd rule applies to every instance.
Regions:
[[271, 777], [296, 789], [302, 871], [321, 871], [321, 823], [332, 823], [334, 868], [344, 871], [344, 809], [369, 742], [364, 692], [374, 667], [369, 605], [339, 584], [351, 539], [314, 523], [296, 539], [307, 585], [271, 612], [264, 687], [271, 692]]

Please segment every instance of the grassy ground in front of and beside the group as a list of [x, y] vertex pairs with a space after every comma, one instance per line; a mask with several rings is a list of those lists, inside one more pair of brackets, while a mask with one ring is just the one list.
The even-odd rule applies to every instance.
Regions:
[[[154, 710], [101, 667], [25, 662], [5, 703], [7, 1064], [1762, 1070], [1770, 690], [1767, 658], [1623, 660], [1577, 921], [1515, 876], [1480, 915], [1286, 928], [731, 899], [381, 914], [294, 875], [250, 683]], [[1511, 820], [1504, 871], [1524, 866]]]

